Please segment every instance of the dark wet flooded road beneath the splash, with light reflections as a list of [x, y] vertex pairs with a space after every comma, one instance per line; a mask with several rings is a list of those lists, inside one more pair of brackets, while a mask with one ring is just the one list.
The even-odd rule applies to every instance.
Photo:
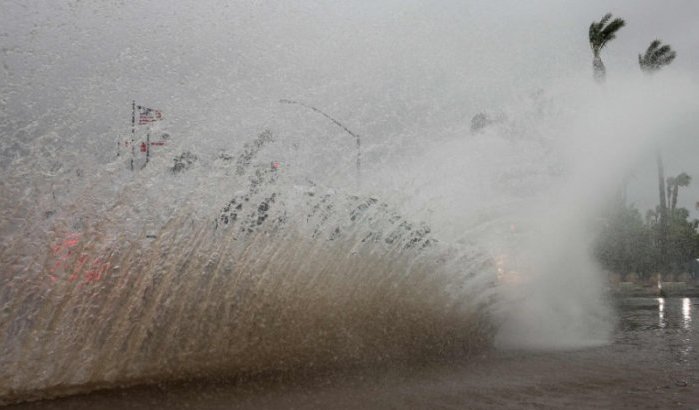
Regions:
[[191, 382], [9, 406], [44, 409], [699, 408], [699, 299], [617, 303], [612, 344], [304, 380]]

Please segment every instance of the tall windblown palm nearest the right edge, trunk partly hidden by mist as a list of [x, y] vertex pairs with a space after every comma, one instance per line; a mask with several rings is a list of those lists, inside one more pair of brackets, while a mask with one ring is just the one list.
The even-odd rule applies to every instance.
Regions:
[[[667, 44], [662, 45], [660, 40], [653, 40], [648, 46], [646, 53], [638, 55], [638, 64], [641, 67], [641, 71], [647, 74], [653, 74], [672, 63], [676, 56], [677, 53], [672, 50], [672, 47]], [[660, 257], [663, 259], [667, 255], [668, 214], [667, 201], [665, 198], [665, 167], [663, 165], [660, 147], [656, 149], [655, 162], [658, 167], [658, 193], [660, 197], [658, 242], [660, 245]], [[665, 265], [664, 263], [661, 264], [663, 266]]]

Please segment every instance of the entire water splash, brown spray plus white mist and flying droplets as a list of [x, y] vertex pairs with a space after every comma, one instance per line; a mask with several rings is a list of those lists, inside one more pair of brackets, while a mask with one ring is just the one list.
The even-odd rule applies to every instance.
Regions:
[[[493, 328], [499, 346], [607, 340], [590, 221], [634, 158], [696, 129], [693, 78], [593, 87], [498, 47], [526, 29], [577, 64], [488, 7], [461, 24], [392, 2], [211, 4], [71, 3], [41, 24], [11, 5], [0, 395], [407, 360]], [[187, 18], [134, 46], [170, 12]], [[137, 172], [115, 158], [133, 98], [170, 135]], [[359, 181], [355, 141], [280, 99], [362, 135]], [[496, 121], [472, 130], [483, 110]]]

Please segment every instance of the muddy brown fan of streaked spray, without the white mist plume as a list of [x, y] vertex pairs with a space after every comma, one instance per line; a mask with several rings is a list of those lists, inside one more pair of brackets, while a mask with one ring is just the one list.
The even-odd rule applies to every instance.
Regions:
[[[116, 169], [112, 178], [130, 182], [113, 198], [104, 182], [90, 186], [13, 238], [2, 252], [2, 394], [415, 360], [487, 343], [482, 252], [441, 244], [376, 198], [294, 185], [293, 173], [256, 166], [257, 154], [215, 173], [163, 172], [157, 160], [135, 175]], [[212, 180], [232, 196], [212, 201], [214, 212], [191, 190]], [[149, 195], [152, 186], [169, 194]]]

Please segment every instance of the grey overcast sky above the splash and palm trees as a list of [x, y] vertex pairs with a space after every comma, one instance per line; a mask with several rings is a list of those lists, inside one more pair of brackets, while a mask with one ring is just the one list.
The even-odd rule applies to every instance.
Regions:
[[[603, 51], [610, 82], [637, 73], [637, 55], [655, 38], [677, 50], [667, 73], [699, 72], [693, 0], [0, 0], [0, 8], [5, 142], [20, 138], [14, 122], [45, 118], [42, 132], [112, 146], [128, 131], [132, 99], [171, 114], [181, 134], [206, 129], [225, 141], [231, 129], [259, 128], [287, 97], [361, 124], [369, 143], [417, 140], [559, 78], [591, 76], [587, 28], [608, 11], [627, 22]], [[698, 140], [663, 147], [668, 174], [695, 176], [681, 195], [691, 209]], [[639, 163], [630, 197], [645, 209], [657, 188], [652, 161]]]

